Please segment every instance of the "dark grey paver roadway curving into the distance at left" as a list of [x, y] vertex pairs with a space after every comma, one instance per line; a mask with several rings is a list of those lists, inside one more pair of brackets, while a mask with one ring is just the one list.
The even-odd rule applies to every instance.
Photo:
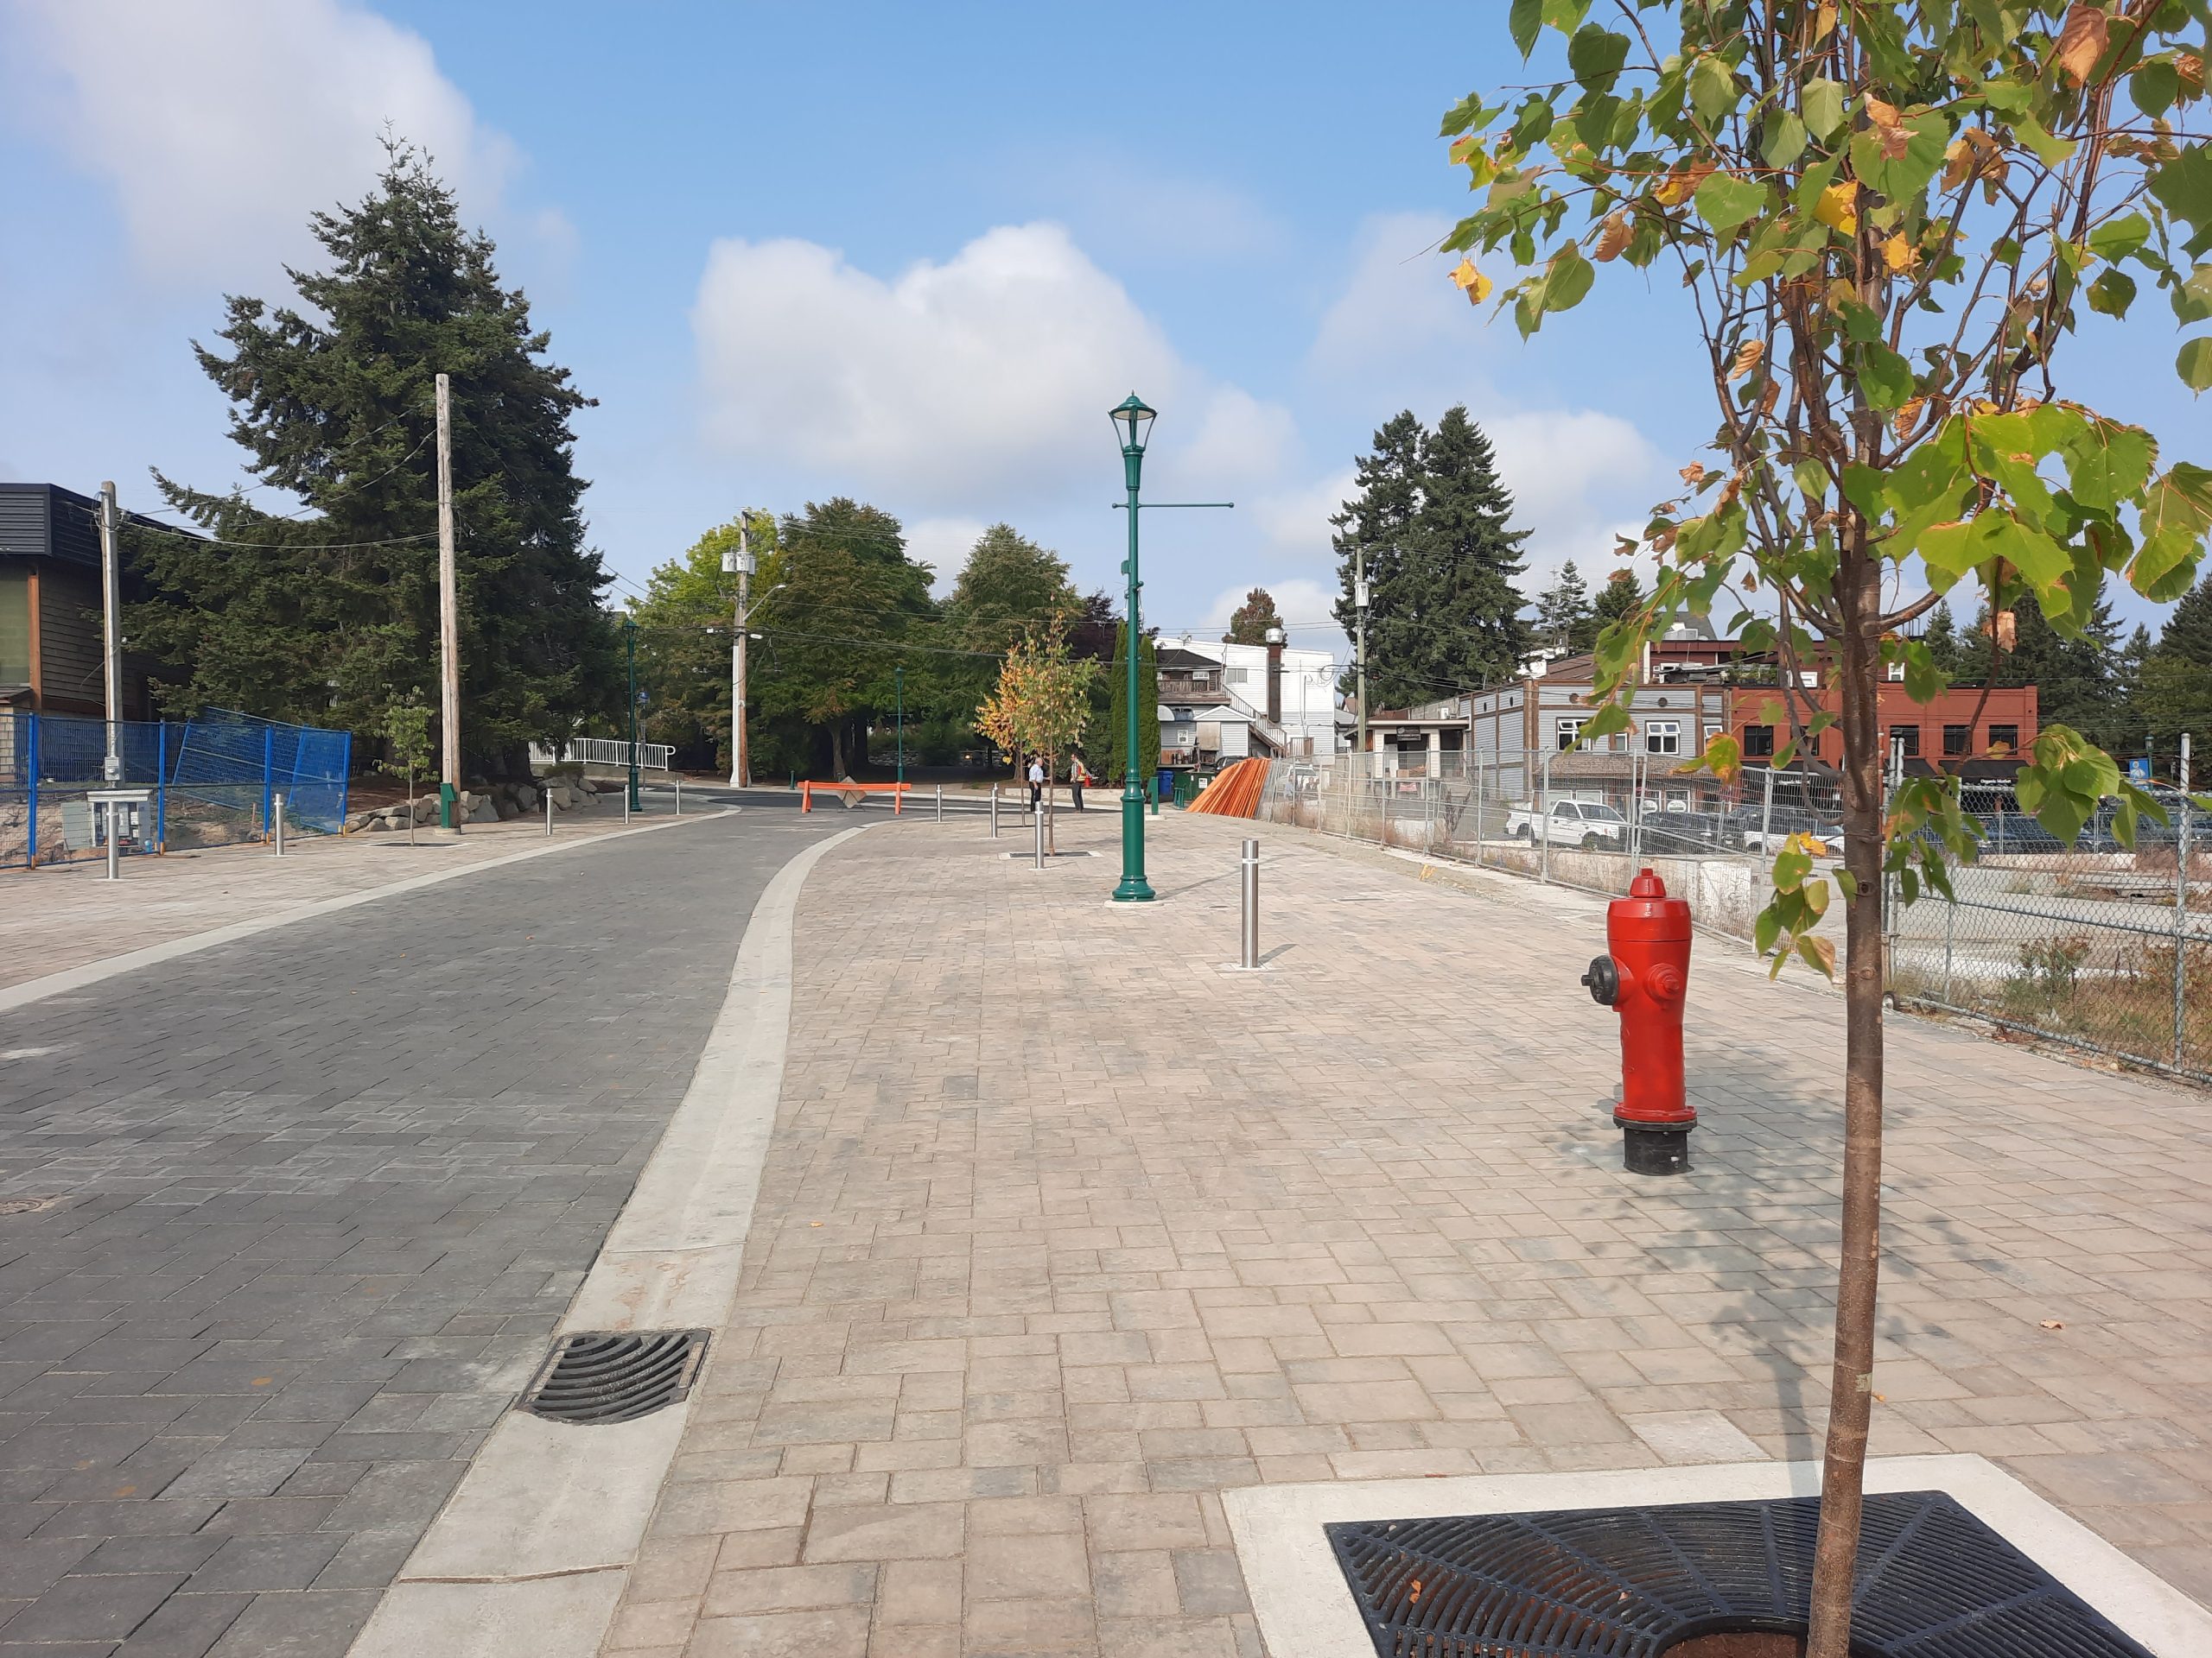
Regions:
[[0, 1654], [343, 1654], [544, 1357], [761, 889], [845, 827], [701, 818], [0, 1015]]

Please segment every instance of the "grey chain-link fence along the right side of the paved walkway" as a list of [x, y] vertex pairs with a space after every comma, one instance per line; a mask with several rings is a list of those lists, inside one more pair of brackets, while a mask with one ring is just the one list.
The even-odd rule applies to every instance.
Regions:
[[[1582, 749], [1378, 752], [1274, 760], [1256, 816], [1621, 895], [1644, 867], [1703, 928], [1747, 940], [1772, 853], [1803, 833], [1816, 869], [1843, 858], [1832, 772], [1681, 774], [1681, 756]], [[2132, 849], [2110, 811], [2073, 844], [2020, 809], [2011, 783], [1969, 783], [1982, 853], [1953, 869], [1955, 902], [1889, 891], [1889, 988], [2135, 1063], [2212, 1081], [2212, 844], [2174, 789], [2170, 822]], [[1843, 906], [1823, 922], [1843, 946]]]

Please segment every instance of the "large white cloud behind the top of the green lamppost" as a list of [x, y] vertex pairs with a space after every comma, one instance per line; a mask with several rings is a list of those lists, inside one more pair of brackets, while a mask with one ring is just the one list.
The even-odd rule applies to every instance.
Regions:
[[1179, 427], [1197, 411], [1168, 478], [1272, 475], [1294, 440], [1283, 409], [1186, 369], [1053, 223], [889, 281], [810, 241], [717, 241], [692, 332], [712, 440], [940, 506], [1113, 491], [1106, 411], [1130, 387]]

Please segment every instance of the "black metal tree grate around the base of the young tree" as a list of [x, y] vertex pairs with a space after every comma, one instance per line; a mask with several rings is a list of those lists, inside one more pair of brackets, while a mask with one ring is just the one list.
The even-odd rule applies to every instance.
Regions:
[[[1380, 1658], [1803, 1634], [1816, 1497], [1329, 1525]], [[2152, 1658], [1944, 1492], [1867, 1497], [1854, 1658]]]

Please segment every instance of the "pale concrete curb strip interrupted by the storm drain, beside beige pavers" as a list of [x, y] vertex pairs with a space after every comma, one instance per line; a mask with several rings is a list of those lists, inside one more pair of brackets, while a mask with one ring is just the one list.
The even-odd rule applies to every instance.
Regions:
[[[867, 827], [794, 856], [754, 904], [684, 1103], [577, 1289], [564, 1333], [721, 1329], [783, 1092], [799, 891], [832, 847]], [[352, 1658], [593, 1658], [688, 1419], [690, 1399], [591, 1428], [502, 1415]]]

